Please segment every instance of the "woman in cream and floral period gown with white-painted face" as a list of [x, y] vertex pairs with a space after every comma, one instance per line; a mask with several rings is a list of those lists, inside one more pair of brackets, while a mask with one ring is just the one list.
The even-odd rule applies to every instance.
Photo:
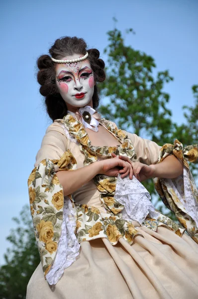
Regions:
[[[49, 53], [38, 82], [53, 124], [28, 179], [41, 264], [27, 299], [197, 298], [198, 193], [187, 162], [197, 146], [161, 148], [101, 119], [104, 62], [83, 39], [58, 39]], [[183, 229], [152, 206], [140, 183], [150, 177]]]

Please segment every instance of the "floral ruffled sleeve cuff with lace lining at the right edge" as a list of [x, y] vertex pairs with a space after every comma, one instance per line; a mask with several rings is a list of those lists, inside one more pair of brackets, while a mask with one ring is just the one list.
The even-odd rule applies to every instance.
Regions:
[[[183, 148], [183, 145], [178, 140], [175, 140], [174, 145], [166, 144], [161, 148], [159, 162], [162, 162], [169, 154], [174, 154], [177, 158], [182, 160], [184, 164], [184, 175], [172, 180], [155, 178], [155, 188], [166, 207], [174, 212], [181, 225], [187, 230], [193, 240], [198, 243], [198, 225], [195, 221], [198, 217], [198, 190], [188, 164], [188, 160], [195, 162], [198, 158], [198, 145]], [[189, 180], [189, 187], [186, 188], [185, 177]], [[190, 197], [189, 202], [188, 197]], [[185, 207], [186, 202], [187, 205]], [[193, 213], [189, 209], [192, 203], [194, 204]], [[179, 227], [178, 224], [172, 220], [165, 219], [163, 215], [161, 216], [161, 222], [168, 224], [174, 230]]]

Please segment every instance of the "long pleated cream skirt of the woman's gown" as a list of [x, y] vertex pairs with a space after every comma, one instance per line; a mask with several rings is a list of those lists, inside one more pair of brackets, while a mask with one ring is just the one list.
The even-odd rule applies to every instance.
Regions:
[[27, 286], [26, 299], [198, 299], [198, 244], [167, 227], [137, 230], [132, 245], [98, 238], [81, 243], [76, 262], [56, 286], [41, 264]]

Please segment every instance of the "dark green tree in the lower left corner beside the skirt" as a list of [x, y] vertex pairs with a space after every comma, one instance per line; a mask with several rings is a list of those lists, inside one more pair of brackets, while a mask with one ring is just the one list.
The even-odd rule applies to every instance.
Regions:
[[29, 206], [24, 206], [17, 224], [6, 238], [5, 264], [0, 267], [0, 298], [25, 299], [28, 281], [40, 262]]

